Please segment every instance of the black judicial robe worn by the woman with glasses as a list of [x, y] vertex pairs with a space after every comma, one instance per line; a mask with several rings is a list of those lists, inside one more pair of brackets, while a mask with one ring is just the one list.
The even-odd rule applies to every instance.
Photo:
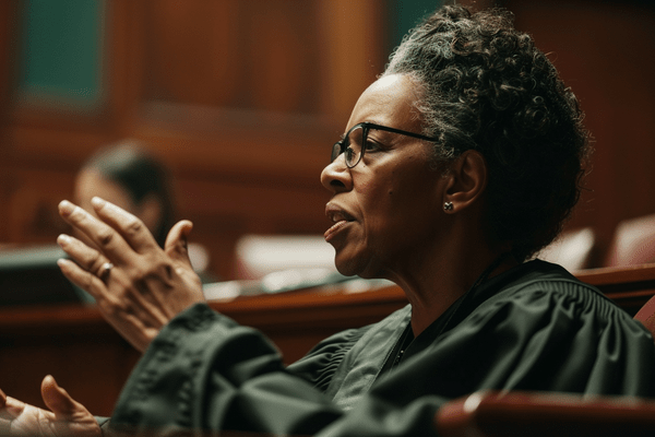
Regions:
[[409, 306], [285, 367], [262, 333], [195, 305], [152, 342], [109, 426], [432, 436], [440, 405], [481, 389], [655, 397], [651, 334], [561, 267], [529, 261], [469, 297], [389, 371]]

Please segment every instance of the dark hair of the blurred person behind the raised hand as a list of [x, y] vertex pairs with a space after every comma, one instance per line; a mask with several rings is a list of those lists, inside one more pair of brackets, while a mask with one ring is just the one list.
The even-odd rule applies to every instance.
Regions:
[[83, 169], [95, 169], [103, 177], [120, 185], [134, 204], [148, 196], [160, 203], [162, 213], [156, 228], [151, 229], [159, 246], [164, 247], [168, 231], [176, 221], [169, 169], [133, 140], [109, 144], [86, 161]]

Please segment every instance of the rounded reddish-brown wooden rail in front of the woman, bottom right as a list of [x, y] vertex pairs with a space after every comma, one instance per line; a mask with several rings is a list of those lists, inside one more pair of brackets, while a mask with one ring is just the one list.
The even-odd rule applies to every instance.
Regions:
[[538, 392], [478, 392], [442, 406], [443, 437], [651, 437], [655, 402]]

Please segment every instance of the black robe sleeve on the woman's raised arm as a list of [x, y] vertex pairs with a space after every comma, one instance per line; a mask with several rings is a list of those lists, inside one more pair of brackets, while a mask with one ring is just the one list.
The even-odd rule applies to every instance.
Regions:
[[341, 414], [285, 368], [261, 333], [198, 304], [153, 340], [119, 397], [111, 426], [307, 435]]

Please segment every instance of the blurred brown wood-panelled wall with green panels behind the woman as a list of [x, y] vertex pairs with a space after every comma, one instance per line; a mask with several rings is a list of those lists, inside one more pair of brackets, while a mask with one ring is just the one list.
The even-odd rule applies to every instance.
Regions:
[[[616, 229], [655, 214], [655, 3], [474, 3], [513, 11], [579, 96], [596, 152], [567, 231], [591, 232], [579, 267], [617, 263]], [[246, 235], [322, 235], [331, 144], [402, 35], [439, 4], [1, 1], [0, 246], [68, 232], [57, 203], [97, 147], [126, 138], [170, 168], [178, 215], [216, 277], [243, 276]]]

